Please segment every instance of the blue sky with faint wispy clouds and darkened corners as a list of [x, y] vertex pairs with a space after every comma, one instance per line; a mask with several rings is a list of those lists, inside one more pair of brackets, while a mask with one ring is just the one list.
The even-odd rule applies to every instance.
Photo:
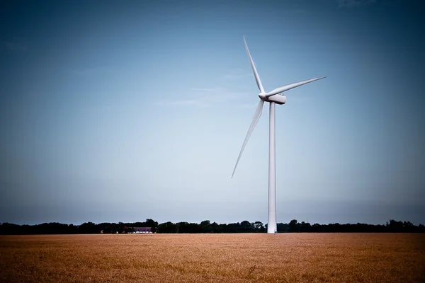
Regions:
[[425, 223], [421, 1], [6, 1], [0, 222]]

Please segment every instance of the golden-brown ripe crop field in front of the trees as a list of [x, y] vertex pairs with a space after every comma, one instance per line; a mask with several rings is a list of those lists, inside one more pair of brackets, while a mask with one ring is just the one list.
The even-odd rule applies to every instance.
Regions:
[[0, 236], [0, 282], [425, 282], [409, 233]]

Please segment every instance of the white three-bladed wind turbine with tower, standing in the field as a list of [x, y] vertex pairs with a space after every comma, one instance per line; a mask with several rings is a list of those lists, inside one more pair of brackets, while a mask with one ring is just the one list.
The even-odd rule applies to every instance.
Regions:
[[291, 83], [286, 86], [280, 86], [280, 88], [275, 88], [273, 91], [266, 93], [264, 91], [263, 85], [261, 84], [259, 74], [255, 69], [254, 62], [251, 58], [251, 53], [249, 53], [248, 45], [246, 45], [246, 40], [244, 37], [246, 53], [249, 57], [249, 63], [251, 64], [252, 71], [254, 72], [254, 78], [257, 86], [259, 87], [260, 94], [260, 102], [256, 111], [254, 113], [254, 117], [252, 118], [251, 126], [249, 126], [248, 133], [246, 134], [244, 144], [242, 144], [242, 149], [239, 152], [239, 156], [237, 157], [236, 165], [234, 166], [232, 178], [234, 175], [234, 171], [237, 168], [237, 163], [239, 163], [239, 159], [242, 156], [242, 152], [245, 149], [246, 143], [248, 142], [249, 137], [251, 137], [252, 131], [256, 123], [259, 121], [261, 116], [261, 112], [263, 112], [263, 104], [264, 102], [270, 103], [270, 125], [269, 125], [269, 141], [268, 141], [268, 224], [267, 224], [267, 233], [276, 233], [277, 224], [276, 224], [276, 151], [275, 151], [275, 103], [279, 105], [286, 103], [286, 96], [280, 95], [284, 91], [289, 91], [292, 88], [296, 88], [297, 86], [302, 86], [305, 83], [311, 83], [312, 81], [317, 81], [319, 79], [326, 78], [326, 76], [322, 76], [316, 79], [309, 79], [306, 81], [300, 81], [298, 83]]

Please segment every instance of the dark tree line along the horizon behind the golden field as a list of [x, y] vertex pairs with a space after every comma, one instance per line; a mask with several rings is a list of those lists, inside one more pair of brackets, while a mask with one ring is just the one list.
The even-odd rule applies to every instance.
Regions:
[[[410, 221], [390, 219], [385, 225], [373, 224], [310, 224], [296, 219], [289, 223], [278, 223], [278, 233], [425, 233], [425, 226], [415, 226]], [[267, 224], [242, 221], [230, 224], [217, 224], [205, 220], [197, 223], [171, 221], [158, 224], [153, 219], [132, 223], [85, 222], [81, 225], [60, 224], [57, 222], [36, 225], [18, 225], [4, 222], [0, 224], [0, 235], [30, 234], [86, 234], [86, 233], [131, 233], [133, 227], [150, 227], [153, 233], [266, 233]]]

